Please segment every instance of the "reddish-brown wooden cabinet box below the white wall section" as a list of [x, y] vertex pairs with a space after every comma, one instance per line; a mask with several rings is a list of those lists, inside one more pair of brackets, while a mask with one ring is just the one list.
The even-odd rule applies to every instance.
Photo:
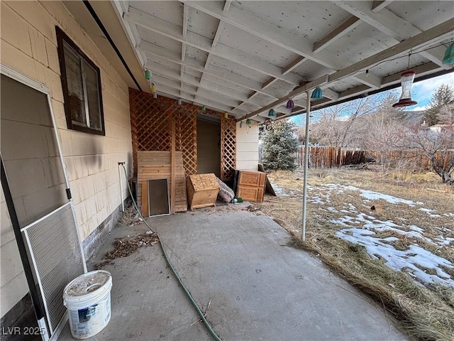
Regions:
[[245, 201], [262, 202], [266, 178], [267, 175], [263, 172], [240, 171], [236, 197]]

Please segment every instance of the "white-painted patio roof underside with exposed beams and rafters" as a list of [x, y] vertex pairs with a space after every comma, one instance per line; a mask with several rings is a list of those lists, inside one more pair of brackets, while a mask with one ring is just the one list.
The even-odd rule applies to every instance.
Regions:
[[[158, 94], [237, 120], [263, 121], [271, 108], [277, 117], [305, 112], [306, 91], [314, 87], [323, 90], [311, 104], [317, 109], [396, 87], [409, 69], [416, 80], [453, 71], [442, 63], [454, 38], [453, 1], [113, 4], [141, 67], [133, 72], [141, 85], [148, 69]], [[101, 4], [92, 5], [105, 22]], [[121, 52], [131, 54], [124, 45]], [[285, 108], [288, 99], [292, 110]]]

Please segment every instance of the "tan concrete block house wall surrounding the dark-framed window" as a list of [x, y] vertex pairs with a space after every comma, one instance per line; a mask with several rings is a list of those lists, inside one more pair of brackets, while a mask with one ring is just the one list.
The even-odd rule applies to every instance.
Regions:
[[[133, 169], [128, 87], [62, 1], [1, 1], [0, 6], [1, 63], [50, 88], [79, 232], [85, 239], [121, 205], [121, 192], [128, 194], [126, 182], [120, 188], [118, 178], [119, 161], [126, 161], [128, 175]], [[101, 70], [106, 136], [67, 129], [55, 26]], [[2, 194], [1, 316], [28, 291], [7, 213]]]

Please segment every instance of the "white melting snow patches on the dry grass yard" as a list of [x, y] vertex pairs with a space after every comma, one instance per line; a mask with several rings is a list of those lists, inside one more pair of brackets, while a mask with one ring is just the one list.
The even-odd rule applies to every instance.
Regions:
[[[273, 186], [277, 188], [276, 186]], [[319, 210], [326, 210], [330, 212], [342, 212], [345, 215], [337, 220], [331, 220], [333, 224], [338, 224], [344, 227], [336, 232], [336, 236], [345, 239], [353, 244], [359, 244], [365, 247], [367, 253], [372, 256], [372, 259], [383, 259], [389, 268], [395, 271], [406, 271], [413, 276], [419, 283], [426, 285], [431, 283], [445, 284], [454, 288], [454, 278], [447, 274], [445, 270], [454, 269], [452, 264], [447, 259], [444, 259], [431, 251], [423, 249], [417, 244], [411, 244], [409, 249], [404, 251], [396, 249], [392, 243], [399, 241], [398, 237], [379, 237], [378, 233], [383, 235], [383, 232], [389, 232], [393, 236], [401, 235], [407, 238], [420, 239], [423, 242], [437, 246], [447, 247], [454, 244], [454, 238], [444, 237], [440, 234], [437, 238], [428, 238], [424, 236], [424, 229], [414, 224], [405, 224], [408, 222], [405, 218], [399, 218], [399, 222], [391, 220], [378, 220], [371, 215], [358, 212], [359, 209], [349, 202], [345, 202], [345, 207], [336, 209], [331, 206], [324, 206], [330, 202], [331, 195], [343, 194], [345, 190], [354, 190], [360, 192], [360, 195], [365, 199], [363, 202], [366, 204], [370, 200], [386, 200], [392, 204], [404, 204], [410, 207], [416, 205], [423, 205], [423, 202], [414, 202], [412, 200], [405, 200], [392, 195], [385, 195], [382, 193], [372, 192], [370, 190], [362, 190], [354, 186], [337, 185], [333, 183], [321, 184], [316, 186], [308, 186], [308, 202], [316, 205], [321, 205]], [[285, 190], [279, 188], [277, 193], [279, 195], [287, 195]], [[294, 194], [294, 193], [292, 193]], [[288, 195], [287, 195], [288, 196]], [[441, 217], [435, 210], [430, 210], [420, 207], [418, 210], [426, 212], [429, 217]], [[444, 213], [448, 217], [454, 217], [454, 212]], [[438, 229], [441, 233], [450, 232], [449, 229]]]

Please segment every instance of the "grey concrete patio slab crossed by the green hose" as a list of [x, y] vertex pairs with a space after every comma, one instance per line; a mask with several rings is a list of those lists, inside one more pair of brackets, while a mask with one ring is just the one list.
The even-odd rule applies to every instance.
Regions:
[[[206, 318], [222, 340], [408, 340], [383, 308], [244, 207], [148, 220], [194, 300], [202, 310], [210, 303]], [[147, 230], [117, 226], [91, 268], [114, 238]], [[90, 340], [211, 340], [159, 245], [103, 269], [114, 283], [111, 321]], [[72, 340], [68, 325], [59, 340]]]

